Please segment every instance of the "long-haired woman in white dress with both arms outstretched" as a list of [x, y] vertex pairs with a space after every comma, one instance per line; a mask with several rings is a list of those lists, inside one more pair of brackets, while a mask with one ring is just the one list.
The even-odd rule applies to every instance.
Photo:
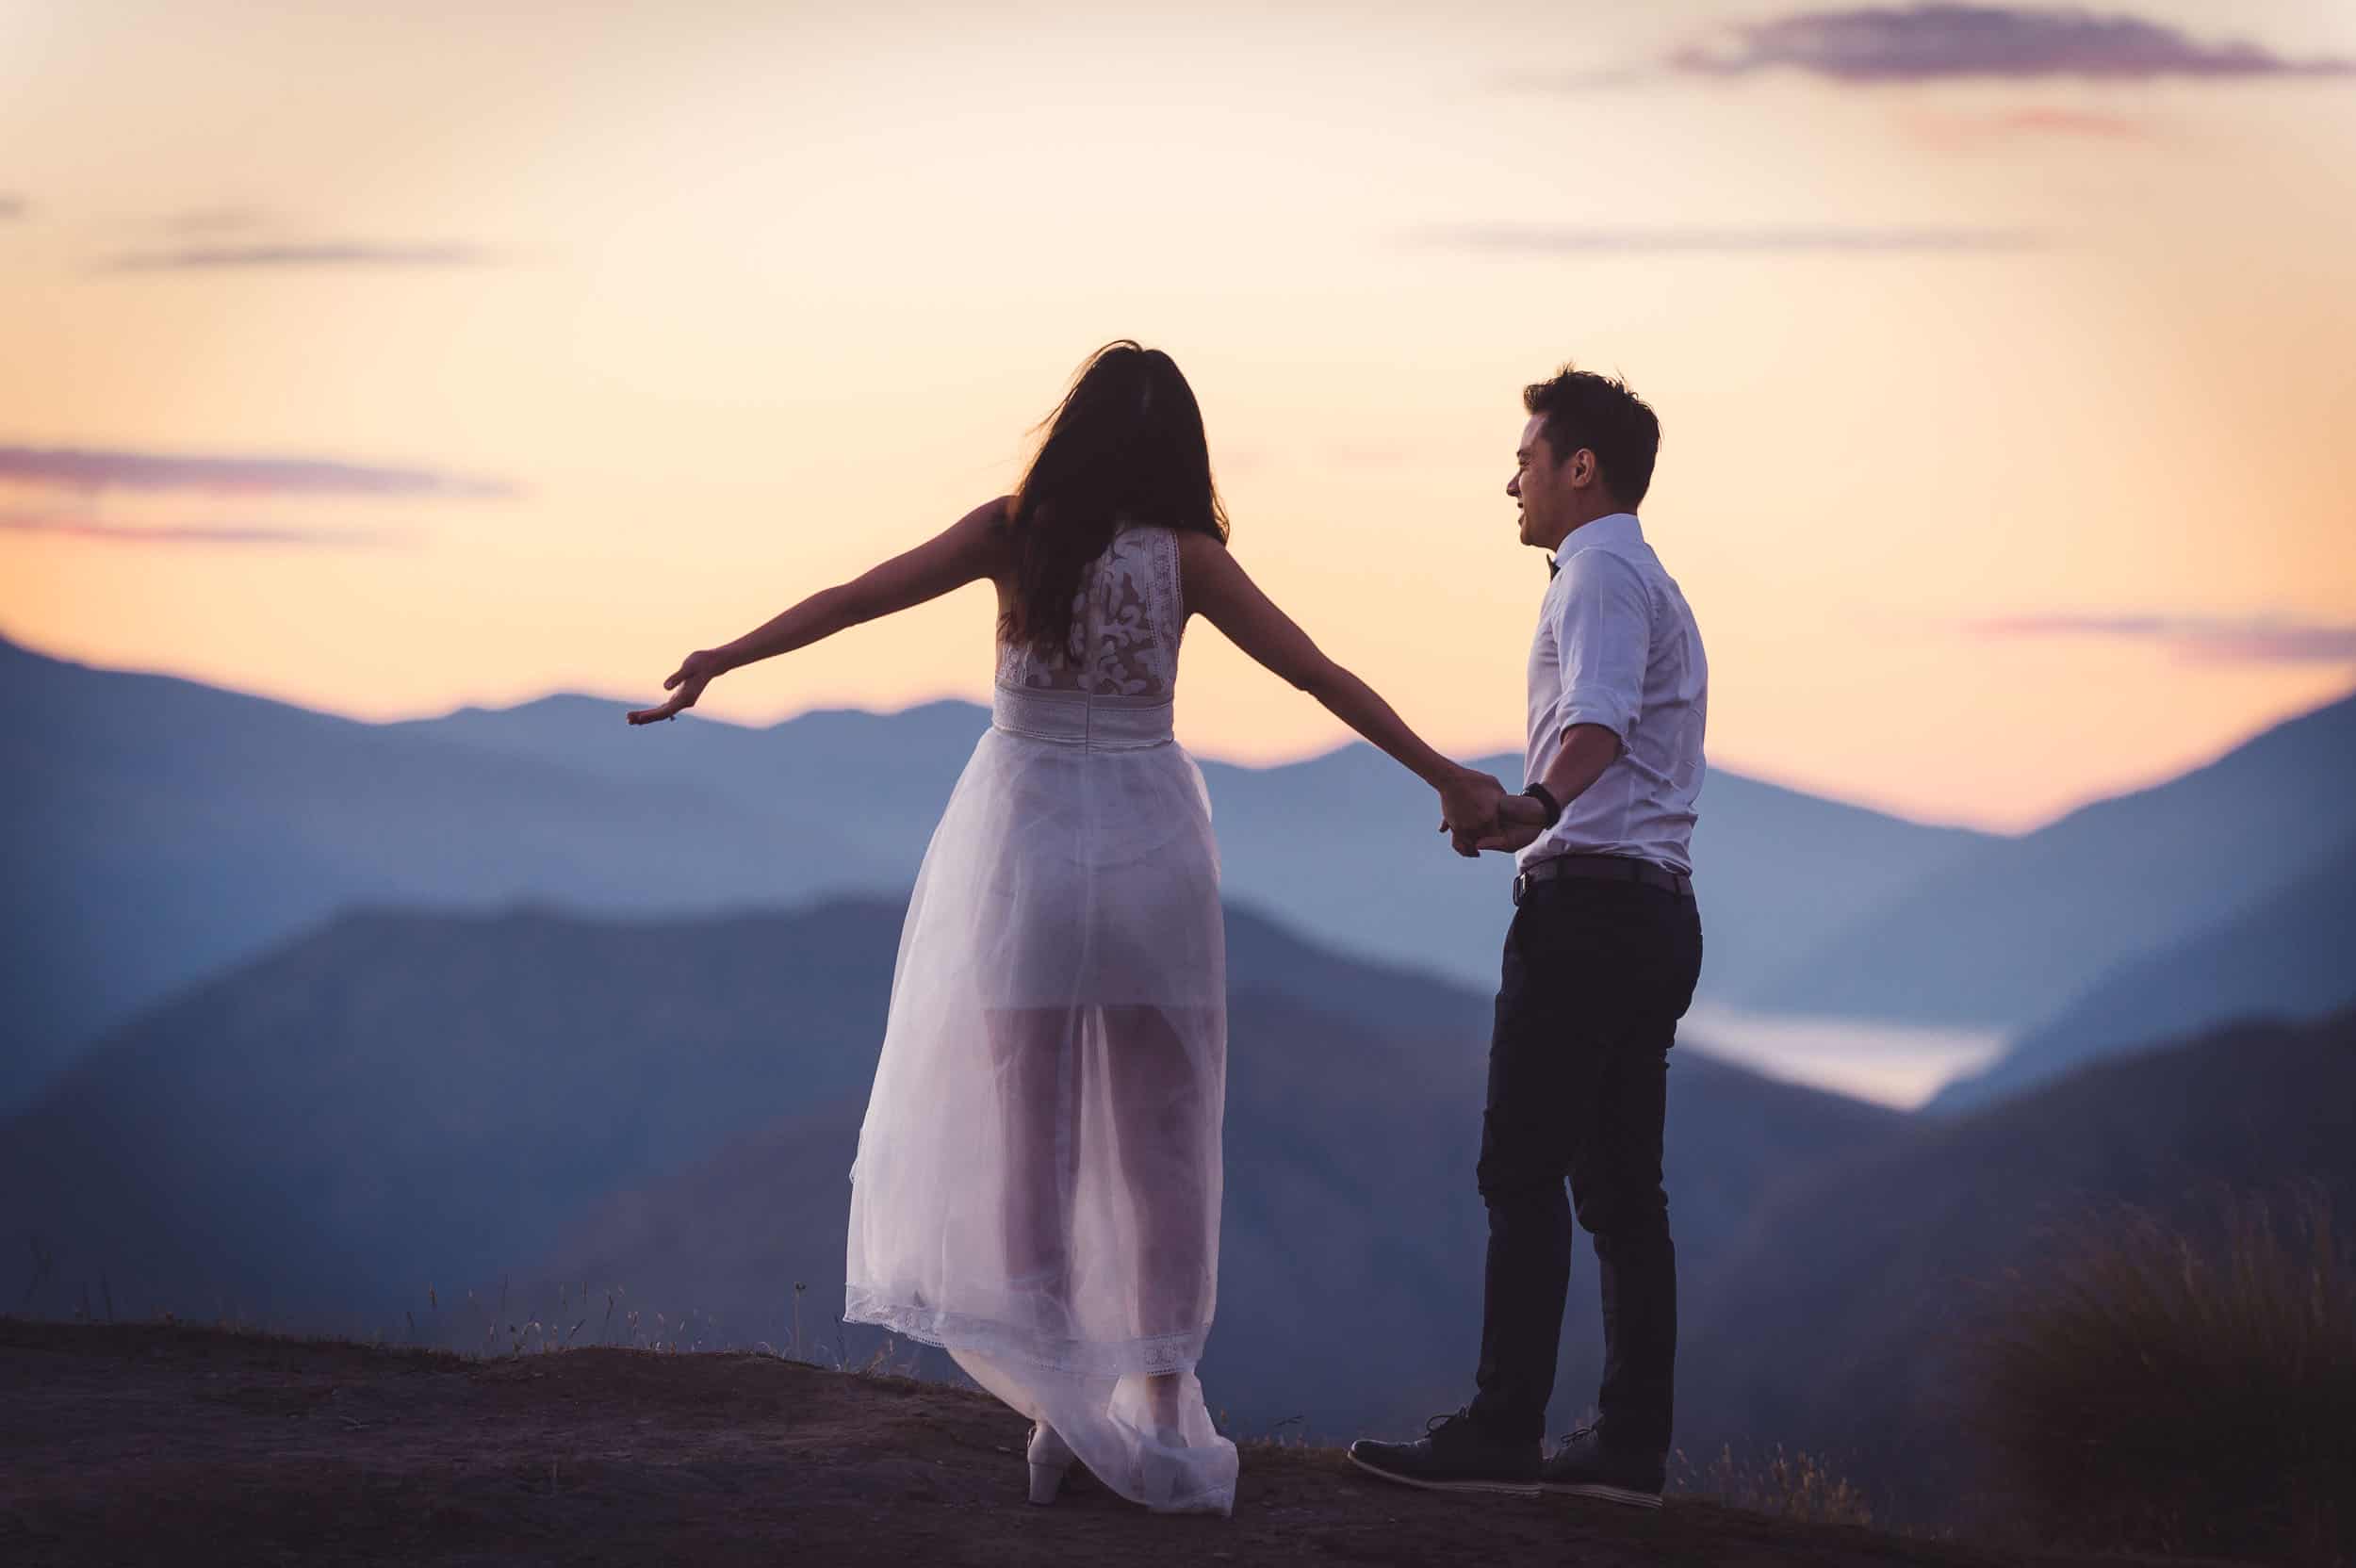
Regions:
[[1077, 1457], [1152, 1509], [1235, 1507], [1235, 1443], [1194, 1377], [1218, 1295], [1227, 975], [1211, 803], [1171, 739], [1187, 617], [1414, 770], [1444, 822], [1480, 826], [1503, 793], [1317, 652], [1225, 539], [1192, 388], [1124, 339], [1081, 367], [1018, 494], [688, 655], [674, 697], [629, 716], [997, 584], [992, 725], [907, 906], [843, 1316], [947, 1349], [1032, 1417], [1032, 1502]]

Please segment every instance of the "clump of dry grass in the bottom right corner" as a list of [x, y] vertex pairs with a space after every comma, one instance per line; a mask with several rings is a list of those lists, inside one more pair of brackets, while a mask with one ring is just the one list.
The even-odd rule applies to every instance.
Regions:
[[2356, 1271], [2321, 1194], [2111, 1210], [2014, 1281], [1977, 1427], [2047, 1540], [2356, 1561]]

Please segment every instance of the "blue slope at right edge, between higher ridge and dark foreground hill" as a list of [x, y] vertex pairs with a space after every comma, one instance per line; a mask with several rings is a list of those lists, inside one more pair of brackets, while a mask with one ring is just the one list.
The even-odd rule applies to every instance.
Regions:
[[2248, 913], [2118, 965], [1993, 1067], [1958, 1078], [1922, 1109], [1972, 1111], [2196, 1026], [2302, 1019], [2349, 1005], [2356, 1005], [2356, 843]]

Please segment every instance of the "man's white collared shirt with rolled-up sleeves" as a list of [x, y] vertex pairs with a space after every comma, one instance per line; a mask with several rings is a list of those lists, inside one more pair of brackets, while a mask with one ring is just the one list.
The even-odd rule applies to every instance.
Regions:
[[1612, 730], [1621, 753], [1517, 859], [1633, 855], [1689, 873], [1710, 692], [1694, 612], [1633, 511], [1571, 530], [1555, 563], [1529, 645], [1522, 777], [1546, 775], [1571, 725]]

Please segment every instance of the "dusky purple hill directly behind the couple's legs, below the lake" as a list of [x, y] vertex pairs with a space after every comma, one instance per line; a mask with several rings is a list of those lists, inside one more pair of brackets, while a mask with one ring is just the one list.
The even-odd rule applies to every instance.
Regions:
[[[1227, 1189], [1218, 1328], [1204, 1375], [1239, 1431], [1298, 1417], [1308, 1431], [1421, 1429], [1463, 1403], [1480, 1351], [1487, 1220], [1472, 1189], [1480, 1059], [1404, 1029], [1336, 1024], [1270, 991], [1237, 994], [1227, 1083]], [[785, 1118], [648, 1189], [617, 1194], [530, 1271], [532, 1302], [629, 1281], [671, 1321], [801, 1351], [836, 1344], [846, 1172], [865, 1102]], [[1677, 1255], [1713, 1274], [1762, 1196], [1821, 1161], [1901, 1135], [1894, 1111], [1758, 1078], [1706, 1055], [1673, 1057], [1668, 1189]], [[1564, 1410], [1597, 1377], [1593, 1264], [1574, 1269]], [[924, 1366], [945, 1370], [940, 1356]]]

